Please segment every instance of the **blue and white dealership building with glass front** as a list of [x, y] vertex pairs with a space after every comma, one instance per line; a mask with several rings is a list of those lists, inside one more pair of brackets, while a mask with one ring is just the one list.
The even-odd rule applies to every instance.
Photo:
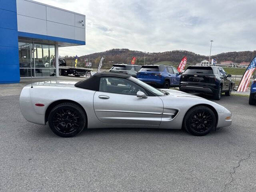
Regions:
[[32, 0], [0, 0], [0, 83], [58, 76], [58, 48], [85, 45], [85, 15]]

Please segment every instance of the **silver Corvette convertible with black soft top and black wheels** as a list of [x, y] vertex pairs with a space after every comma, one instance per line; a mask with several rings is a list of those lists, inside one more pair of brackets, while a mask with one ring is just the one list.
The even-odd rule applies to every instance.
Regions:
[[156, 89], [129, 75], [98, 73], [80, 82], [46, 81], [20, 94], [26, 120], [70, 137], [84, 128], [184, 128], [203, 136], [230, 126], [223, 106], [178, 90]]

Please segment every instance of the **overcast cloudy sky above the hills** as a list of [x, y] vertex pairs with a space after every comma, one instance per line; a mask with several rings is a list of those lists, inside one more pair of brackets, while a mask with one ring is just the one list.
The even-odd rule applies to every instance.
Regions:
[[256, 0], [37, 0], [86, 15], [86, 45], [60, 48], [82, 56], [112, 48], [188, 50], [209, 55], [256, 50]]

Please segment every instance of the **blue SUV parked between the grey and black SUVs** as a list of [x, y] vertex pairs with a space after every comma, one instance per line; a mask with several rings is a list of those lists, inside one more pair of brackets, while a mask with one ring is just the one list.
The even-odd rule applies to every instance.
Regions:
[[180, 84], [180, 73], [168, 65], [143, 65], [137, 73], [137, 78], [147, 84], [166, 89], [178, 87]]

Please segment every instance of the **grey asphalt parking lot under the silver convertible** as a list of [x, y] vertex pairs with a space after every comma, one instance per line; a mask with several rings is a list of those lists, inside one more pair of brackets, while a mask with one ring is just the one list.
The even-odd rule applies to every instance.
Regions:
[[223, 96], [232, 126], [94, 129], [60, 138], [27, 122], [19, 96], [0, 96], [0, 191], [256, 191], [256, 106]]

